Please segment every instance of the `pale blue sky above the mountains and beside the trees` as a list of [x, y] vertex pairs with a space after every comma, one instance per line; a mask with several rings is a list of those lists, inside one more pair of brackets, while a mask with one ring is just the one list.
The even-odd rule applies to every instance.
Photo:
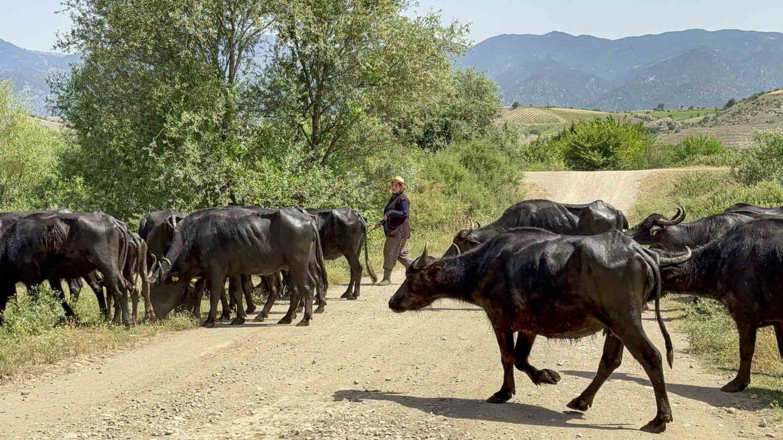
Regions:
[[[70, 19], [60, 0], [0, 0], [0, 38], [24, 49], [51, 51]], [[498, 34], [590, 34], [602, 38], [701, 28], [783, 32], [781, 0], [420, 0], [410, 14], [442, 9], [446, 21], [471, 23], [471, 39]]]

